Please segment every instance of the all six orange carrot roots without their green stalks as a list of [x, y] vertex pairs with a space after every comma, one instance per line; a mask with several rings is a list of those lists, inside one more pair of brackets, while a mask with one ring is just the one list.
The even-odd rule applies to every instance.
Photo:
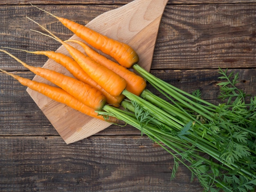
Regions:
[[[21, 63], [24, 67], [34, 72], [34, 74], [49, 80], [58, 87], [50, 87], [49, 85], [46, 86], [38, 82], [9, 74], [7, 71], [1, 69], [2, 72], [13, 76], [13, 78], [16, 78], [22, 85], [25, 85], [36, 90], [37, 92], [45, 94], [49, 98], [61, 103], [65, 103], [76, 110], [79, 109], [79, 111], [101, 120], [106, 120], [106, 117], [103, 118], [103, 116], [97, 115], [97, 112], [95, 111], [102, 110], [103, 106], [106, 104], [119, 107], [120, 103], [125, 98], [125, 96], [122, 94], [124, 89], [138, 96], [141, 94], [146, 87], [146, 81], [141, 76], [138, 76], [126, 68], [131, 67], [133, 64], [139, 61], [138, 55], [130, 46], [110, 39], [106, 36], [102, 36], [96, 31], [92, 31], [91, 29], [71, 20], [56, 16], [54, 17], [61, 21], [63, 25], [73, 31], [77, 36], [81, 37], [81, 40], [85, 40], [88, 42], [88, 44], [92, 45], [92, 47], [109, 54], [115, 60], [117, 60], [119, 64], [109, 60], [103, 55], [100, 55], [97, 51], [90, 48], [81, 40], [61, 40], [52, 32], [45, 29], [45, 27], [27, 17], [29, 20], [32, 20], [38, 24], [51, 35], [47, 36], [60, 42], [72, 57], [54, 51], [16, 50], [26, 51], [27, 53], [31, 54], [45, 55], [63, 65], [74, 77], [69, 77], [42, 67], [33, 67], [27, 65], [16, 56], [13, 56], [9, 52], [0, 49], [0, 51], [8, 54]], [[85, 54], [69, 45], [68, 42], [75, 42], [81, 45], [85, 51]], [[83, 107], [83, 109], [86, 108], [87, 110], [81, 110], [81, 105], [87, 106]], [[113, 117], [107, 118], [110, 122], [117, 121]]]

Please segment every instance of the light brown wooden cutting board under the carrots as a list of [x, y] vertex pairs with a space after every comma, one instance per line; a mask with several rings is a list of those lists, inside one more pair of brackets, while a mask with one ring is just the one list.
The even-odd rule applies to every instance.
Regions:
[[[130, 45], [140, 57], [139, 65], [149, 71], [159, 23], [167, 2], [168, 0], [135, 0], [101, 14], [86, 26]], [[74, 35], [71, 39], [79, 38]], [[82, 51], [78, 45], [71, 45]], [[69, 55], [63, 46], [57, 49], [57, 52]], [[71, 76], [64, 67], [53, 60], [47, 60], [43, 67]], [[33, 80], [49, 83], [39, 76], [35, 76]], [[27, 92], [67, 144], [87, 138], [111, 125], [57, 103], [29, 88]]]

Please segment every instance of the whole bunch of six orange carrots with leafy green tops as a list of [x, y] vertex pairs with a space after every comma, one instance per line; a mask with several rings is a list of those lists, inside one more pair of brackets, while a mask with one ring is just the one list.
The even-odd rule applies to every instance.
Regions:
[[[178, 164], [182, 163], [191, 170], [192, 178], [195, 175], [198, 177], [206, 191], [217, 191], [215, 188], [224, 191], [233, 191], [234, 188], [234, 191], [255, 188], [256, 133], [251, 124], [256, 125], [254, 112], [256, 97], [249, 105], [250, 115], [243, 116], [248, 118], [249, 123], [246, 121], [248, 125], [237, 124], [233, 121], [235, 118], [230, 119], [237, 115], [229, 111], [227, 108], [229, 106], [225, 108], [225, 105], [216, 106], [208, 103], [148, 73], [137, 64], [139, 56], [130, 46], [68, 19], [54, 17], [81, 40], [63, 41], [39, 23], [28, 19], [50, 35], [42, 34], [60, 42], [71, 57], [54, 51], [22, 51], [48, 56], [63, 65], [74, 78], [49, 69], [29, 66], [3, 49], [0, 51], [9, 54], [24, 67], [58, 87], [0, 70], [16, 78], [22, 85], [89, 116], [113, 123], [121, 120], [136, 127], [173, 155], [177, 162], [173, 167], [173, 175]], [[85, 53], [72, 47], [69, 42], [80, 45]], [[117, 62], [100, 55], [85, 42], [96, 50], [108, 54]], [[130, 67], [133, 67], [143, 78], [127, 69]], [[149, 92], [144, 78], [171, 102]], [[120, 105], [126, 110], [118, 108]], [[222, 118], [224, 114], [227, 116]], [[226, 126], [227, 122], [228, 126]], [[234, 128], [233, 132], [229, 127]], [[219, 144], [220, 142], [222, 145]], [[227, 152], [227, 147], [230, 146], [232, 153]], [[234, 150], [232, 146], [235, 146], [234, 149], [240, 147], [240, 150]], [[201, 152], [207, 153], [210, 158], [200, 156]], [[185, 160], [191, 165], [186, 165]], [[247, 162], [253, 163], [247, 165]], [[223, 183], [223, 180], [226, 183]]]

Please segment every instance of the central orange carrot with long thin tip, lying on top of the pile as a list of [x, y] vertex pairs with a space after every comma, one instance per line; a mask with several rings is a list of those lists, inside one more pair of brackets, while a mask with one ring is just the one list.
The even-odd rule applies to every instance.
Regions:
[[[28, 17], [27, 17], [28, 18]], [[35, 22], [34, 20], [28, 18], [29, 20]], [[75, 49], [71, 45], [67, 44], [57, 36], [55, 36], [51, 31], [45, 29], [42, 25], [35, 22], [38, 26], [47, 31], [51, 36], [53, 36], [58, 42], [60, 42], [74, 58], [74, 60], [80, 65], [80, 67], [97, 82], [103, 89], [105, 89], [112, 96], [119, 96], [121, 92], [125, 89], [127, 83], [124, 78], [121, 78], [115, 72], [103, 67], [99, 63], [95, 62], [88, 56], [85, 56], [81, 51]]]

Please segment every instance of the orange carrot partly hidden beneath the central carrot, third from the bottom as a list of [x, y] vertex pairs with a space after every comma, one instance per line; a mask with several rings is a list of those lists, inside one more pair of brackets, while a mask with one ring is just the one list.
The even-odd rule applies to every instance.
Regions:
[[[9, 47], [2, 47], [7, 49], [14, 49]], [[70, 73], [77, 78], [78, 80], [82, 81], [83, 83], [86, 83], [96, 89], [98, 89], [104, 96], [106, 96], [107, 103], [110, 105], [113, 105], [115, 107], [118, 107], [121, 103], [121, 101], [124, 99], [124, 95], [120, 95], [117, 97], [113, 97], [108, 92], [106, 92], [105, 89], [103, 89], [99, 84], [97, 84], [90, 76], [88, 76], [85, 71], [74, 61], [71, 57], [66, 56], [62, 53], [57, 53], [54, 51], [27, 51], [24, 49], [15, 49], [19, 51], [25, 51], [26, 53], [31, 54], [39, 54], [39, 55], [45, 55], [48, 58], [56, 61], [57, 63], [61, 64], [63, 67], [65, 67]]]

